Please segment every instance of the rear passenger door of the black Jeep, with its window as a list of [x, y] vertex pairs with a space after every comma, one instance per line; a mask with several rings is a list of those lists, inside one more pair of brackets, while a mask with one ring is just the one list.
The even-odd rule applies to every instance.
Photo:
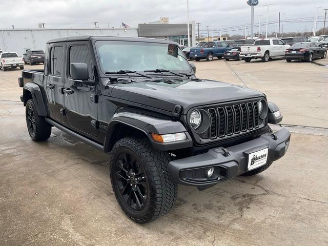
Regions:
[[64, 64], [66, 43], [54, 43], [49, 46], [47, 54], [46, 93], [50, 118], [65, 122], [64, 112]]

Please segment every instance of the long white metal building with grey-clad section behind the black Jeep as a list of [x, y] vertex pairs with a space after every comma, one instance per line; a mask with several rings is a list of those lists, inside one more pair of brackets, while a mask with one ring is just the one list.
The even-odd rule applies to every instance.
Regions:
[[[88, 28], [88, 29], [3, 29], [0, 30], [0, 49], [18, 55], [27, 49], [45, 50], [50, 39], [79, 35], [103, 35], [120, 37], [150, 37], [174, 40], [188, 46], [187, 24], [139, 24], [138, 28]], [[190, 24], [190, 42], [196, 43], [195, 23]]]

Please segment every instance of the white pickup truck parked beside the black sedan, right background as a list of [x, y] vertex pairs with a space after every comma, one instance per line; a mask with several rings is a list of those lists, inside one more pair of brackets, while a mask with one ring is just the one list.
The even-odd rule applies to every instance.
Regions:
[[251, 59], [260, 58], [268, 61], [274, 57], [284, 57], [285, 50], [291, 47], [279, 38], [256, 39], [252, 46], [241, 46], [240, 57], [249, 63]]

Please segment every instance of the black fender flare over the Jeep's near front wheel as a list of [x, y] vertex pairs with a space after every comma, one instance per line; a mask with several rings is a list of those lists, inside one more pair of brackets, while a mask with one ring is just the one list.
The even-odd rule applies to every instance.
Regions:
[[[101, 124], [101, 123], [100, 123]], [[123, 111], [115, 113], [109, 122], [104, 141], [104, 151], [109, 152], [119, 139], [117, 126], [128, 127], [143, 133], [151, 142], [156, 150], [168, 151], [192, 147], [192, 138], [187, 132], [186, 128], [180, 121], [173, 121], [171, 119], [162, 119], [154, 116], [141, 114], [139, 112]], [[156, 134], [170, 134], [177, 132], [185, 132], [187, 135], [186, 140], [177, 142], [160, 143], [153, 140], [151, 133]]]

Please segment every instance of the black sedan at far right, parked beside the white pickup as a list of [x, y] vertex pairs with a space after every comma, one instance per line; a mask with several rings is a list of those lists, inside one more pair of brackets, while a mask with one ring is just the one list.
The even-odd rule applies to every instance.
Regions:
[[326, 48], [316, 42], [297, 43], [285, 51], [285, 59], [288, 62], [292, 60], [306, 60], [311, 63], [315, 58], [326, 58], [326, 56]]

